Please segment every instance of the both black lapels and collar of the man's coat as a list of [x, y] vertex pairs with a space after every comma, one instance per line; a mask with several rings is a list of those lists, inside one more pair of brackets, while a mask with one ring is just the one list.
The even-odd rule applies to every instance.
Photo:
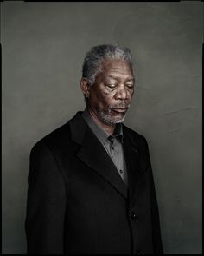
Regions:
[[80, 145], [77, 151], [77, 156], [88, 167], [96, 171], [105, 181], [114, 187], [119, 194], [122, 194], [126, 199], [128, 195], [132, 198], [135, 192], [135, 185], [137, 181], [137, 160], [138, 151], [136, 146], [132, 143], [132, 137], [128, 134], [124, 126], [124, 156], [128, 170], [129, 190], [118, 174], [117, 168], [112, 163], [111, 158], [106, 153], [105, 148], [100, 143], [99, 139], [93, 134], [91, 128], [86, 124], [78, 112], [69, 121], [71, 130], [71, 138], [74, 142]]

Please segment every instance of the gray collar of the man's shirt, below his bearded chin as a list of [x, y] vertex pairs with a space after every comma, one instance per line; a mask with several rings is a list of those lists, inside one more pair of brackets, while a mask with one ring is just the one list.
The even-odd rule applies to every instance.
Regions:
[[89, 114], [88, 110], [85, 109], [85, 111], [82, 113], [82, 116], [88, 126], [92, 129], [93, 133], [97, 135], [100, 141], [106, 142], [112, 141], [114, 139], [118, 139], [121, 143], [123, 142], [123, 126], [121, 123], [116, 124], [116, 128], [114, 130], [113, 135], [109, 135], [105, 132], [102, 128], [99, 127], [99, 125], [92, 119], [92, 116]]

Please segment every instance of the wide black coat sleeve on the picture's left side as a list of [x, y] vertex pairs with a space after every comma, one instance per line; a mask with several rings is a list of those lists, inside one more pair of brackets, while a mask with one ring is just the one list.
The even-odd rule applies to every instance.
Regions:
[[25, 221], [27, 252], [62, 254], [66, 188], [54, 154], [38, 142], [29, 162], [29, 188]]

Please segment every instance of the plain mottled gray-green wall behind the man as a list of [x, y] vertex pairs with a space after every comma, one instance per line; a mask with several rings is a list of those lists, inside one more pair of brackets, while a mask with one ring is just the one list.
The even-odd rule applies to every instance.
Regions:
[[201, 2], [1, 3], [3, 253], [26, 253], [29, 152], [85, 107], [83, 58], [130, 47], [137, 77], [124, 123], [143, 134], [164, 253], [201, 253]]

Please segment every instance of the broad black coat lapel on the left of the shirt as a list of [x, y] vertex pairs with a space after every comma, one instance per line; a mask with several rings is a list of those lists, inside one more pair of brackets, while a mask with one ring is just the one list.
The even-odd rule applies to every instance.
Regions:
[[73, 120], [70, 121], [73, 141], [81, 145], [77, 156], [114, 187], [119, 194], [127, 198], [127, 187], [118, 174], [117, 168], [106, 153], [103, 145], [86, 125], [86, 122], [80, 114], [81, 113], [77, 113], [77, 115], [73, 117]]

